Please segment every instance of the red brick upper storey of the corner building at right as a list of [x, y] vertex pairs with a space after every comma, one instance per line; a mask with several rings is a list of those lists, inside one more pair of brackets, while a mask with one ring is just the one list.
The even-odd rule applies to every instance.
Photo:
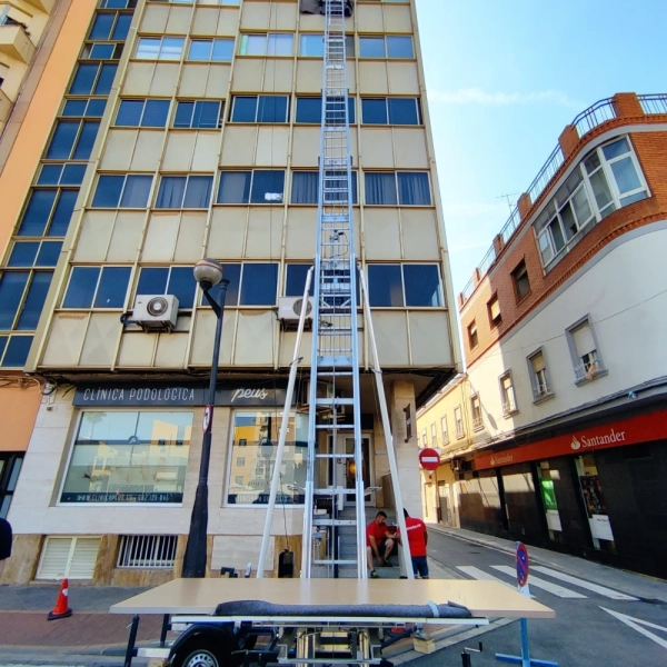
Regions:
[[[555, 193], [554, 185], [560, 176], [574, 163], [579, 161], [588, 151], [597, 137], [610, 130], [618, 129], [623, 135], [628, 125], [650, 126], [667, 123], [667, 115], [646, 116], [634, 93], [619, 93], [613, 100], [618, 118], [608, 120], [586, 133], [576, 143], [576, 130], [568, 126], [560, 136], [561, 148], [566, 160], [551, 179], [549, 186], [532, 206], [527, 196], [522, 196], [519, 208], [524, 222], [508, 247], [496, 246], [498, 259], [490, 272], [481, 278], [470, 299], [460, 309], [461, 327], [467, 332], [475, 320], [477, 325], [478, 345], [470, 349], [468, 336], [462, 336], [467, 366], [479, 359], [490, 346], [508, 334], [522, 318], [534, 310], [541, 301], [551, 295], [577, 269], [586, 263], [601, 248], [631, 229], [667, 218], [667, 131], [629, 132], [635, 152], [648, 183], [648, 199], [626, 206], [607, 216], [596, 225], [545, 276], [535, 233], [530, 227], [532, 218], [541, 203]], [[496, 245], [496, 243], [495, 243]], [[511, 272], [524, 260], [528, 269], [530, 291], [519, 302], [515, 290]], [[477, 281], [476, 281], [477, 282]], [[491, 328], [487, 303], [498, 296], [501, 322]], [[460, 303], [460, 301], [459, 301]]]

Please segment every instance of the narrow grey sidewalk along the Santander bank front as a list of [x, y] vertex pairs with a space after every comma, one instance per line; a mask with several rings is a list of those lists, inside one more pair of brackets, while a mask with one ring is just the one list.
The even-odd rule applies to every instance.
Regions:
[[[434, 532], [441, 532], [511, 556], [516, 552], [516, 542], [500, 537], [472, 532], [462, 528], [448, 528], [439, 524], [427, 524], [427, 528]], [[594, 560], [559, 554], [549, 549], [540, 549], [539, 547], [528, 546], [528, 556], [530, 563], [563, 570], [573, 577], [587, 579], [645, 600], [667, 603], [667, 581], [664, 579], [616, 569]]]

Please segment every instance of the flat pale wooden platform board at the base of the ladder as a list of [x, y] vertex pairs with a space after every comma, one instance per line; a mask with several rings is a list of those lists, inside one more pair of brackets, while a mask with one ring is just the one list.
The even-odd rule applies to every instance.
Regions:
[[555, 618], [498, 581], [466, 579], [175, 579], [113, 605], [111, 614], [212, 614], [220, 603], [464, 605], [479, 618]]

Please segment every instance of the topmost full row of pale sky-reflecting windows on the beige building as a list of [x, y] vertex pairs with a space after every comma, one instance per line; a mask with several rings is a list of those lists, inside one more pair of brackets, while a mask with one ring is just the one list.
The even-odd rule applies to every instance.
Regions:
[[[90, 39], [107, 39], [90, 36]], [[111, 37], [111, 39], [118, 39]], [[125, 39], [125, 38], [123, 38]], [[359, 36], [360, 58], [415, 58], [412, 38], [410, 36], [385, 34], [380, 37]], [[233, 57], [233, 38], [190, 39], [186, 51], [185, 37], [140, 37], [137, 40], [135, 58], [138, 60], [186, 60], [193, 62], [231, 62]], [[293, 56], [295, 34], [291, 32], [260, 32], [240, 36], [239, 56]], [[346, 53], [356, 54], [354, 36], [346, 37]], [[299, 56], [322, 58], [325, 54], [323, 34], [301, 34], [299, 37]]]

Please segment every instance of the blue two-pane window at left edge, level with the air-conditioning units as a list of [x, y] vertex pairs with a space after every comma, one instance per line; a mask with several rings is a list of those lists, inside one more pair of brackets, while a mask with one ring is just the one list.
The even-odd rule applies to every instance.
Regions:
[[37, 328], [52, 276], [52, 271], [0, 273], [0, 330], [30, 331]]

